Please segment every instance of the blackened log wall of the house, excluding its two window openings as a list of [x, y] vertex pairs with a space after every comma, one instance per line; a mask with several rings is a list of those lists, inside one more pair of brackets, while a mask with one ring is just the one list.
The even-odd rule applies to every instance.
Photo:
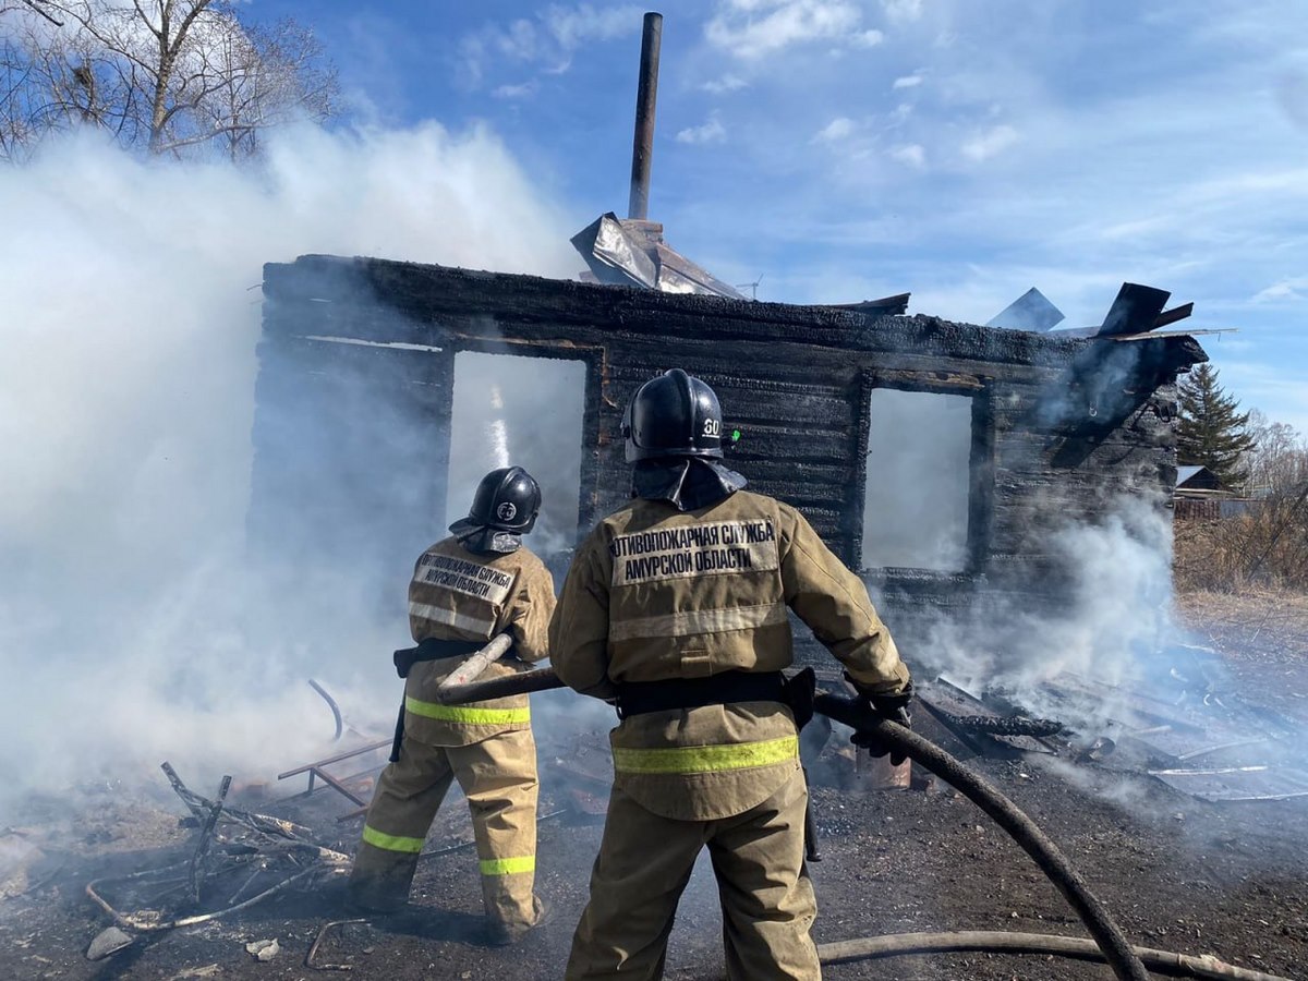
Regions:
[[[377, 515], [364, 551], [403, 566], [443, 514], [459, 351], [587, 364], [578, 534], [627, 497], [627, 398], [680, 366], [713, 385], [727, 421], [746, 430], [732, 466], [799, 508], [852, 568], [862, 565], [865, 481], [876, 480], [866, 458], [870, 392], [972, 398], [965, 565], [863, 570], [892, 624], [964, 611], [986, 595], [1057, 602], [1065, 576], [1049, 531], [1095, 521], [1120, 493], [1167, 498], [1175, 378], [1205, 360], [1189, 337], [1061, 339], [922, 315], [302, 256], [264, 267], [251, 536], [273, 551], [320, 542], [364, 501]], [[398, 417], [422, 420], [422, 437], [392, 441]], [[360, 441], [366, 472], [351, 468]], [[357, 545], [337, 544], [343, 555]]]

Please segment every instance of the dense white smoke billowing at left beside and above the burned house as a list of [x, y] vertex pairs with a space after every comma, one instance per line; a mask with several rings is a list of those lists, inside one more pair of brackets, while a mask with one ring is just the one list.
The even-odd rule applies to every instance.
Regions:
[[264, 262], [576, 266], [569, 222], [483, 128], [306, 127], [268, 148], [251, 173], [81, 133], [0, 170], [5, 791], [165, 757], [303, 759], [331, 735], [310, 674], [360, 692], [361, 714], [396, 696], [403, 623], [361, 602], [347, 636], [292, 637], [302, 596], [268, 595], [239, 559]]

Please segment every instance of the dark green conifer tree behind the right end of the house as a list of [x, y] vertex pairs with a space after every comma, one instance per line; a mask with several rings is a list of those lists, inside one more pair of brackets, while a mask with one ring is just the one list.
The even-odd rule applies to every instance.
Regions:
[[1223, 487], [1244, 484], [1249, 473], [1243, 458], [1256, 441], [1247, 429], [1249, 413], [1218, 383], [1218, 370], [1206, 362], [1196, 366], [1177, 383], [1177, 462], [1207, 467]]

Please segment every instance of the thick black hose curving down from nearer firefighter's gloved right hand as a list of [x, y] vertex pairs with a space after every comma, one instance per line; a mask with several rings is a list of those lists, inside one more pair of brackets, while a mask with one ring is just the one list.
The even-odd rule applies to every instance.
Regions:
[[871, 710], [862, 698], [819, 692], [815, 706], [823, 715], [842, 722], [859, 732], [876, 736], [884, 746], [899, 749], [931, 770], [950, 786], [961, 791], [972, 803], [990, 815], [1022, 849], [1031, 855], [1040, 870], [1058, 888], [1076, 916], [1086, 923], [1090, 935], [1099, 944], [1113, 973], [1120, 981], [1148, 981], [1148, 972], [1135, 956], [1130, 942], [1113, 921], [1086, 880], [1073, 869], [1066, 855], [1018, 810], [997, 787], [978, 777], [950, 753], [904, 726], [888, 722]]

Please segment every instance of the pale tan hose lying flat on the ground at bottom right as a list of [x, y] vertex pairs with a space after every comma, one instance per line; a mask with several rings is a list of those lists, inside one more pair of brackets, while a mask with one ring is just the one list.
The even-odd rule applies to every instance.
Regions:
[[[1290, 981], [1279, 974], [1227, 964], [1211, 955], [1172, 954], [1152, 947], [1131, 947], [1151, 971], [1160, 974], [1235, 978], [1235, 981]], [[861, 937], [854, 940], [819, 943], [818, 959], [823, 964], [848, 964], [871, 957], [897, 957], [906, 954], [946, 954], [952, 951], [1006, 951], [1008, 954], [1057, 954], [1079, 960], [1104, 960], [1093, 940], [1083, 937], [1022, 934], [1006, 930], [959, 930], [940, 934], [891, 934]]]

